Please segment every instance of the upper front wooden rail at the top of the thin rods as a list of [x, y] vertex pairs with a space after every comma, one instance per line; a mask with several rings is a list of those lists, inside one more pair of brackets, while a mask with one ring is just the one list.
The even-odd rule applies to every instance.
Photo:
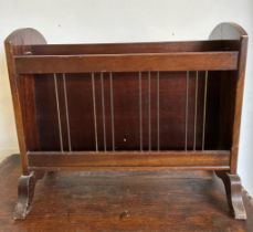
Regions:
[[84, 73], [236, 70], [238, 52], [15, 56], [17, 72]]

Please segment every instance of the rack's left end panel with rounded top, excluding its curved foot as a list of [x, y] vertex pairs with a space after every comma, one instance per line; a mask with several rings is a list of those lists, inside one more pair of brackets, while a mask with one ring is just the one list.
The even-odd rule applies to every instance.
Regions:
[[35, 118], [34, 80], [28, 75], [17, 73], [14, 55], [31, 53], [32, 44], [45, 44], [43, 35], [34, 29], [20, 29], [13, 31], [4, 41], [10, 87], [15, 116], [15, 126], [20, 156], [22, 161], [22, 175], [29, 175], [27, 150], [39, 147], [39, 133]]

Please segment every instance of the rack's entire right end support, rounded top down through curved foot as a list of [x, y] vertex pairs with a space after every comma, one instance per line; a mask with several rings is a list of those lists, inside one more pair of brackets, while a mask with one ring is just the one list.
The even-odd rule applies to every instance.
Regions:
[[230, 158], [230, 172], [217, 171], [224, 183], [229, 205], [235, 219], [245, 220], [246, 212], [242, 200], [242, 186], [236, 172], [239, 156], [239, 138], [243, 102], [244, 75], [247, 50], [247, 33], [235, 23], [221, 23], [214, 28], [210, 35], [211, 40], [238, 40], [240, 41], [239, 65], [235, 84], [235, 103], [233, 110], [233, 131]]

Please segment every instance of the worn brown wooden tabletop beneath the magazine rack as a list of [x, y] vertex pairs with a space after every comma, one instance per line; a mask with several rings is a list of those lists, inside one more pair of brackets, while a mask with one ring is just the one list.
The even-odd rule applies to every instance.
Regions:
[[1, 232], [252, 232], [253, 204], [245, 192], [247, 220], [234, 220], [224, 187], [208, 172], [57, 172], [38, 182], [33, 208], [13, 221], [18, 155], [0, 165]]

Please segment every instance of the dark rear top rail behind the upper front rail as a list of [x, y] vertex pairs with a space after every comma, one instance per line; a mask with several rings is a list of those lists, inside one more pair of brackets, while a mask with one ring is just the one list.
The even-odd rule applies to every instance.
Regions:
[[178, 41], [148, 43], [97, 43], [97, 44], [36, 44], [28, 50], [33, 55], [122, 54], [239, 51], [238, 40]]

